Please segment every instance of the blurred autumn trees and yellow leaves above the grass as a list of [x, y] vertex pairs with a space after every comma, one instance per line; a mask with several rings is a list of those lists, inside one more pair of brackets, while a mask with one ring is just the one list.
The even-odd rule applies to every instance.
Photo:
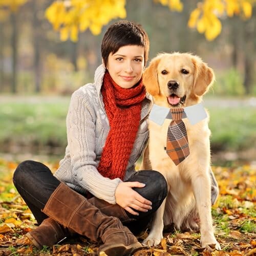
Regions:
[[92, 79], [106, 25], [140, 23], [158, 52], [193, 52], [215, 94], [256, 94], [255, 0], [1, 0], [0, 92], [67, 94]]

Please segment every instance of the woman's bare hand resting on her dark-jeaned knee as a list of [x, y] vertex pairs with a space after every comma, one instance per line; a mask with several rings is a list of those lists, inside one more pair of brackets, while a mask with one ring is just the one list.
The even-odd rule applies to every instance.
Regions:
[[152, 202], [148, 201], [135, 190], [133, 190], [133, 187], [144, 186], [145, 184], [137, 181], [120, 182], [117, 185], [115, 191], [116, 203], [133, 215], [139, 215], [139, 213], [135, 210], [146, 212], [148, 209], [152, 209]]

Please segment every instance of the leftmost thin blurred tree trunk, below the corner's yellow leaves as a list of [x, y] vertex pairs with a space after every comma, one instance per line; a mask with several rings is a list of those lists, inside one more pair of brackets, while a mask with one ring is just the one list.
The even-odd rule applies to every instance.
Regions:
[[11, 14], [11, 23], [12, 23], [12, 93], [17, 92], [17, 19], [16, 13]]

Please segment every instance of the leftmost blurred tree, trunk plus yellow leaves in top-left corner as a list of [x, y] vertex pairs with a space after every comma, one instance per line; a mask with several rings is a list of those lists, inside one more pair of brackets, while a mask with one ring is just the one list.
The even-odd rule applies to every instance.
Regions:
[[[17, 11], [20, 6], [24, 5], [27, 0], [1, 0], [0, 2], [0, 14], [4, 14], [3, 20], [8, 18], [10, 14], [11, 24], [12, 24], [12, 93], [16, 93], [17, 87], [17, 40], [18, 40], [18, 31], [17, 31]], [[2, 56], [3, 57], [3, 56]], [[3, 60], [3, 58], [2, 58]]]

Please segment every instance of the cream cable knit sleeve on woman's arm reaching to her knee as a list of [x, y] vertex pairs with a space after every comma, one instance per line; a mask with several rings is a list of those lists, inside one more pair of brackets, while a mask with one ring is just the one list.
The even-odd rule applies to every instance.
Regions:
[[76, 183], [99, 199], [115, 204], [115, 190], [120, 179], [111, 180], [99, 174], [95, 154], [96, 114], [90, 96], [76, 91], [67, 116], [67, 136], [72, 174]]

